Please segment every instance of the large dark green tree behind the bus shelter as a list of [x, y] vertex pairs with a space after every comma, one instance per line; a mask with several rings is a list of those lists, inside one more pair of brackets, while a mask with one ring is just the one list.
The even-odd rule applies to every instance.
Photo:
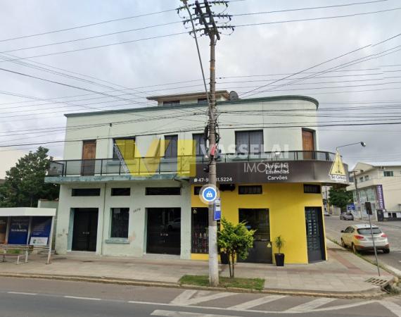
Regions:
[[48, 152], [44, 147], [30, 151], [6, 172], [6, 180], [0, 185], [0, 207], [35, 207], [39, 199], [58, 198], [59, 185], [44, 182], [53, 159]]

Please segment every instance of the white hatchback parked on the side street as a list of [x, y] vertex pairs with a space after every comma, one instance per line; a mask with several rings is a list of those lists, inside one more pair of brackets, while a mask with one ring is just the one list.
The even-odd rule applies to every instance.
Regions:
[[[377, 250], [390, 253], [390, 244], [387, 235], [376, 225], [372, 226], [374, 243]], [[354, 253], [357, 251], [371, 251], [374, 249], [371, 239], [370, 226], [367, 224], [350, 225], [345, 230], [341, 230], [341, 244], [343, 247], [350, 247]]]

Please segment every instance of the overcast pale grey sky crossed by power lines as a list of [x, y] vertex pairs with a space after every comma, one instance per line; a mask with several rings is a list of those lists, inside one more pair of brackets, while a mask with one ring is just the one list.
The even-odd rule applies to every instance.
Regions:
[[[364, 141], [368, 144], [366, 148], [348, 147], [342, 150], [345, 162], [351, 167], [356, 161], [401, 161], [400, 124], [352, 126], [361, 123], [401, 123], [401, 51], [398, 51], [401, 36], [373, 45], [401, 32], [401, 10], [345, 18], [272, 23], [385, 11], [400, 8], [401, 5], [399, 0], [371, 1], [369, 4], [361, 2], [232, 1], [225, 12], [234, 15], [231, 25], [270, 24], [236, 27], [231, 35], [222, 35], [222, 40], [217, 43], [217, 77], [231, 78], [217, 80], [217, 89], [236, 90], [241, 94], [270, 83], [258, 89], [258, 93], [252, 97], [283, 94], [314, 97], [320, 103], [319, 123], [350, 124], [319, 128], [320, 149], [334, 151], [339, 145]], [[185, 31], [176, 11], [79, 27], [165, 11], [177, 8], [180, 4], [178, 0], [1, 1], [0, 58], [13, 61], [0, 61], [0, 68], [82, 89], [0, 70], [0, 144], [61, 140], [64, 138], [65, 127], [63, 113], [144, 106], [143, 103], [148, 102], [145, 97], [149, 95], [202, 90], [200, 81], [189, 82], [200, 79], [193, 39], [188, 34], [172, 35]], [[345, 4], [355, 5], [235, 16], [241, 13]], [[165, 25], [167, 23], [171, 24]], [[153, 25], [161, 26], [148, 27]], [[77, 28], [47, 33], [71, 27]], [[148, 28], [121, 32], [143, 27]], [[120, 33], [97, 37], [113, 32]], [[229, 33], [229, 30], [224, 32]], [[26, 37], [40, 33], [47, 34]], [[172, 36], [160, 37], [163, 35]], [[96, 38], [43, 46], [86, 37]], [[149, 37], [160, 38], [129, 42]], [[129, 43], [104, 46], [117, 42]], [[27, 49], [32, 46], [41, 47]], [[102, 47], [82, 50], [93, 46]], [[209, 46], [206, 37], [200, 39], [200, 46], [203, 61], [208, 63]], [[367, 47], [361, 49], [364, 46]], [[355, 52], [347, 54], [350, 51]], [[337, 58], [343, 54], [346, 55]], [[323, 63], [331, 58], [336, 59]], [[322, 72], [352, 61], [355, 61], [354, 65], [338, 68], [335, 72], [310, 73]], [[323, 64], [305, 73], [293, 75], [288, 80], [272, 83], [272, 80], [286, 77], [286, 74], [298, 73], [319, 63]], [[305, 79], [307, 75], [316, 77]], [[303, 80], [293, 82], [296, 79]], [[182, 83], [155, 86], [173, 82]], [[286, 83], [291, 85], [284, 85]], [[110, 92], [125, 88], [134, 89], [122, 97], [134, 101], [105, 98], [104, 95], [83, 90]], [[108, 94], [122, 93], [114, 91]], [[18, 97], [21, 95], [25, 97]], [[250, 94], [244, 94], [243, 97], [250, 97]], [[90, 100], [77, 101], [79, 99]], [[327, 108], [334, 109], [329, 111]], [[44, 128], [54, 129], [38, 130]], [[63, 156], [62, 143], [44, 146], [51, 149], [53, 156]], [[36, 147], [17, 148], [29, 151]], [[0, 149], [0, 158], [4, 150]]]

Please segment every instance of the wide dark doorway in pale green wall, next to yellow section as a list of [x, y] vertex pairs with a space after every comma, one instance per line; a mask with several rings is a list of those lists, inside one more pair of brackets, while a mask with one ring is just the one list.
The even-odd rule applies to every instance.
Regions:
[[147, 253], [181, 253], [181, 209], [148, 208]]

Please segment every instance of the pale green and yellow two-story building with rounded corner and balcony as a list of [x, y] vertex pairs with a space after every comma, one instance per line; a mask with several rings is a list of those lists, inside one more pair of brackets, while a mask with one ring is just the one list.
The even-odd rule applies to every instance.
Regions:
[[[286, 263], [326, 259], [321, 185], [336, 180], [334, 154], [318, 151], [317, 100], [235, 97], [217, 92], [217, 177], [222, 216], [257, 229], [246, 261], [272, 263], [279, 235]], [[58, 254], [207, 259], [205, 94], [148, 99], [158, 105], [66, 115], [64, 160], [46, 177], [61, 184]]]

